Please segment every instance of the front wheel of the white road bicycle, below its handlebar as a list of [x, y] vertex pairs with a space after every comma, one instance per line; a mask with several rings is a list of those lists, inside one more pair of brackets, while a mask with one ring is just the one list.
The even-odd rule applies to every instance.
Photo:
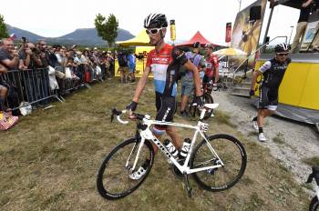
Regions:
[[[133, 162], [135, 160], [135, 154], [137, 150], [137, 146], [139, 146], [139, 140], [136, 138], [130, 138], [128, 140], [123, 141], [122, 143], [118, 144], [118, 146], [115, 146], [110, 153], [105, 157], [105, 159], [102, 162], [102, 165], [98, 169], [98, 176], [97, 176], [97, 187], [98, 187], [98, 193], [100, 196], [107, 198], [108, 200], [115, 200], [119, 198], [123, 198], [125, 196], [128, 196], [129, 194], [133, 193], [138, 187], [145, 181], [146, 177], [149, 175], [149, 172], [151, 170], [151, 167], [153, 166], [154, 162], [154, 150], [151, 146], [150, 142], [148, 140], [145, 141], [144, 146], [142, 147], [141, 153], [139, 155], [139, 160], [136, 166], [136, 169], [139, 168], [139, 166], [142, 165], [146, 161], [147, 158], [149, 158], [149, 166], [147, 168], [147, 171], [144, 176], [139, 178], [139, 180], [133, 180], [129, 178], [129, 167], [126, 166], [126, 162], [129, 159], [130, 156], [130, 163], [133, 165]], [[128, 147], [130, 146], [130, 147]], [[147, 150], [146, 150], [147, 149]], [[123, 150], [124, 155], [121, 157], [120, 153], [121, 150]], [[127, 151], [124, 151], [127, 150]], [[143, 154], [145, 153], [146, 154]], [[119, 154], [119, 158], [122, 158], [121, 160], [117, 160], [117, 156]], [[142, 156], [149, 156], [144, 159]], [[113, 165], [118, 166], [118, 171], [112, 170], [111, 166]], [[109, 176], [106, 176], [105, 174], [110, 174]], [[122, 173], [122, 174], [121, 174]], [[121, 176], [121, 175], [123, 176]], [[118, 181], [122, 179], [123, 181]], [[132, 186], [126, 187], [127, 184], [132, 183]], [[119, 190], [123, 187], [123, 190]], [[114, 190], [113, 190], [114, 188]]]

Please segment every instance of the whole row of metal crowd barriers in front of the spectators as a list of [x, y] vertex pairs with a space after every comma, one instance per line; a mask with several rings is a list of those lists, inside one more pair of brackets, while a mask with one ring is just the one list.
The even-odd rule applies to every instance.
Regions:
[[107, 75], [106, 66], [48, 66], [0, 74], [0, 85], [8, 89], [5, 106], [15, 111], [28, 105], [46, 105], [52, 98], [63, 102], [64, 95], [95, 81], [103, 81]]

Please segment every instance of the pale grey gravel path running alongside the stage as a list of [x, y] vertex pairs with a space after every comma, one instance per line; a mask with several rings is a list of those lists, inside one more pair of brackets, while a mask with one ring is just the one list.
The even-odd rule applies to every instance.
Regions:
[[[250, 135], [253, 140], [251, 119], [256, 116], [257, 109], [252, 106], [252, 99], [223, 91], [212, 95], [214, 102], [220, 104], [217, 109], [230, 113], [242, 134]], [[319, 134], [314, 126], [271, 116], [265, 119], [263, 132], [267, 142], [260, 143], [255, 136], [256, 142], [270, 148], [272, 155], [293, 173], [300, 184], [304, 184], [311, 172], [311, 168], [304, 164], [304, 158], [319, 156]], [[275, 136], [281, 138], [273, 141]]]

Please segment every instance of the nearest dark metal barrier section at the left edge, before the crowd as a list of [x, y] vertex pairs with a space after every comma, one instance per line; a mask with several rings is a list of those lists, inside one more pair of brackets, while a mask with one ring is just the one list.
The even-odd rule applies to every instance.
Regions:
[[50, 90], [47, 68], [11, 70], [0, 75], [0, 84], [8, 87], [6, 106], [12, 110], [20, 108], [22, 102], [46, 103], [52, 97], [61, 101], [57, 93]]

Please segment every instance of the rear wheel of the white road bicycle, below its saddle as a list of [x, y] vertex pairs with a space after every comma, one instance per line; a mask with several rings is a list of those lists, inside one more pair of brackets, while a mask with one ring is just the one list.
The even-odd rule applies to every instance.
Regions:
[[[242, 146], [242, 143], [233, 136], [218, 134], [209, 136], [207, 139], [217, 155], [221, 158], [224, 166], [196, 172], [193, 173], [192, 176], [196, 183], [205, 190], [218, 192], [229, 189], [234, 186], [244, 174], [247, 166], [246, 151]], [[221, 140], [221, 142], [218, 142], [219, 140]], [[209, 157], [201, 158], [205, 156], [204, 154], [208, 154]], [[190, 168], [203, 167], [206, 165], [211, 166], [212, 164], [216, 165], [218, 164], [218, 160], [219, 159], [211, 153], [211, 150], [207, 147], [207, 142], [203, 139], [201, 144], [196, 146], [190, 157]], [[240, 162], [237, 167], [238, 171], [235, 172], [234, 176], [230, 177], [230, 174], [232, 174], [233, 171], [230, 171], [230, 168], [234, 163], [238, 162]], [[219, 175], [221, 175], [221, 179], [218, 178]], [[222, 176], [227, 176], [229, 181], [217, 185], [218, 180], [222, 180]], [[208, 181], [206, 181], [206, 179]], [[226, 177], [223, 178], [223, 180], [226, 181]]]

